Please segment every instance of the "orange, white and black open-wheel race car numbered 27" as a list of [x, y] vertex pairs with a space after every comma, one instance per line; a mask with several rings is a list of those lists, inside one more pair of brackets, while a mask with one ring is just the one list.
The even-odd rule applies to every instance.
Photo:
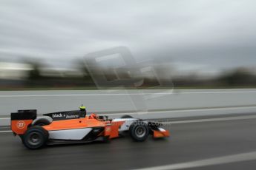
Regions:
[[19, 135], [28, 149], [62, 143], [88, 143], [97, 140], [108, 141], [128, 132], [135, 141], [152, 137], [168, 137], [170, 133], [161, 128], [161, 123], [132, 118], [109, 119], [91, 113], [87, 115], [85, 106], [79, 110], [53, 112], [37, 118], [36, 109], [18, 110], [11, 113], [11, 129]]

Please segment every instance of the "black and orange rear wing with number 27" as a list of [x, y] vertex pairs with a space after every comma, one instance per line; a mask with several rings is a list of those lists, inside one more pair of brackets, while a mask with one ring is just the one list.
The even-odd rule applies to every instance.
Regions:
[[10, 125], [14, 134], [23, 135], [36, 119], [36, 109], [18, 110], [10, 114]]

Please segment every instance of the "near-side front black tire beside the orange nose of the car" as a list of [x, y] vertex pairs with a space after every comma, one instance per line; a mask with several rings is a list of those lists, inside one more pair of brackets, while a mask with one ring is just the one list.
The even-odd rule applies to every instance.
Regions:
[[133, 140], [138, 142], [145, 141], [149, 135], [148, 125], [142, 121], [136, 121], [131, 124], [129, 133]]

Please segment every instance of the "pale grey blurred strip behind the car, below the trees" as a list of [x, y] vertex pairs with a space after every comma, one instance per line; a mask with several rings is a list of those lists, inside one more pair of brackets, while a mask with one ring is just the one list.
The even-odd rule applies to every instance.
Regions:
[[5, 91], [0, 92], [0, 125], [8, 125], [10, 112], [18, 109], [38, 109], [42, 115], [77, 109], [82, 103], [88, 112], [112, 118], [127, 113], [137, 118], [238, 114], [255, 112], [256, 89]]

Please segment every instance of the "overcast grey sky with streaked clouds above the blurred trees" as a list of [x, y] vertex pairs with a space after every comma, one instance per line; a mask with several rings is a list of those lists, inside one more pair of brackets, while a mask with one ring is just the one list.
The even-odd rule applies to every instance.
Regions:
[[255, 7], [254, 0], [1, 0], [0, 57], [54, 65], [125, 46], [138, 61], [255, 66]]

